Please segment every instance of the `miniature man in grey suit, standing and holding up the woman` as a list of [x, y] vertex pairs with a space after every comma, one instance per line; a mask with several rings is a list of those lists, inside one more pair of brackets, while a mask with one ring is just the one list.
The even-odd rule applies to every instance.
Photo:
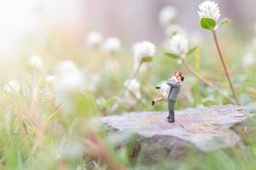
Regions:
[[166, 82], [171, 87], [170, 94], [168, 95], [168, 109], [169, 116], [167, 116], [168, 122], [174, 122], [174, 105], [177, 99], [177, 94], [180, 91], [180, 87], [183, 83], [184, 77], [177, 77], [177, 81]]

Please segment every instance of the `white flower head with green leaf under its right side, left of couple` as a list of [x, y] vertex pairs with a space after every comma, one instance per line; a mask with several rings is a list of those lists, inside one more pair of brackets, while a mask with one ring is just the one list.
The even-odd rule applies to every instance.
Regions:
[[137, 68], [143, 57], [154, 56], [155, 46], [152, 42], [136, 42], [132, 47], [132, 51], [134, 54], [134, 68]]

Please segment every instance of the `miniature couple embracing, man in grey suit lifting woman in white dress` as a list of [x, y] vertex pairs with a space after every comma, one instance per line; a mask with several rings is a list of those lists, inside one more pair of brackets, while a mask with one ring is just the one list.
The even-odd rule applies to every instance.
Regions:
[[152, 105], [162, 100], [168, 100], [169, 116], [166, 117], [168, 122], [174, 122], [174, 105], [183, 80], [183, 73], [181, 71], [175, 71], [172, 78], [166, 82], [167, 86], [164, 91], [158, 86], [155, 87], [160, 94], [160, 98], [154, 99]]

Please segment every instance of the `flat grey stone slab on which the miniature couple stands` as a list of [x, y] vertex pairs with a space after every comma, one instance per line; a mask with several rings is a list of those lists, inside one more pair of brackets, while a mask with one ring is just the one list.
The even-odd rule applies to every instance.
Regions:
[[136, 133], [137, 151], [143, 149], [155, 161], [160, 157], [157, 155], [183, 156], [191, 148], [208, 152], [233, 147], [241, 142], [241, 137], [231, 127], [255, 111], [255, 106], [216, 105], [176, 111], [174, 123], [166, 121], [167, 111], [127, 112], [102, 117], [100, 121], [117, 133]]

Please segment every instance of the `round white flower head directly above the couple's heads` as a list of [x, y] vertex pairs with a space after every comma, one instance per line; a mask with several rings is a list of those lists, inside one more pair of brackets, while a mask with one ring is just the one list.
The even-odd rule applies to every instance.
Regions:
[[188, 47], [189, 41], [183, 34], [176, 34], [173, 36], [170, 40], [170, 50], [174, 54], [187, 54], [188, 53]]

